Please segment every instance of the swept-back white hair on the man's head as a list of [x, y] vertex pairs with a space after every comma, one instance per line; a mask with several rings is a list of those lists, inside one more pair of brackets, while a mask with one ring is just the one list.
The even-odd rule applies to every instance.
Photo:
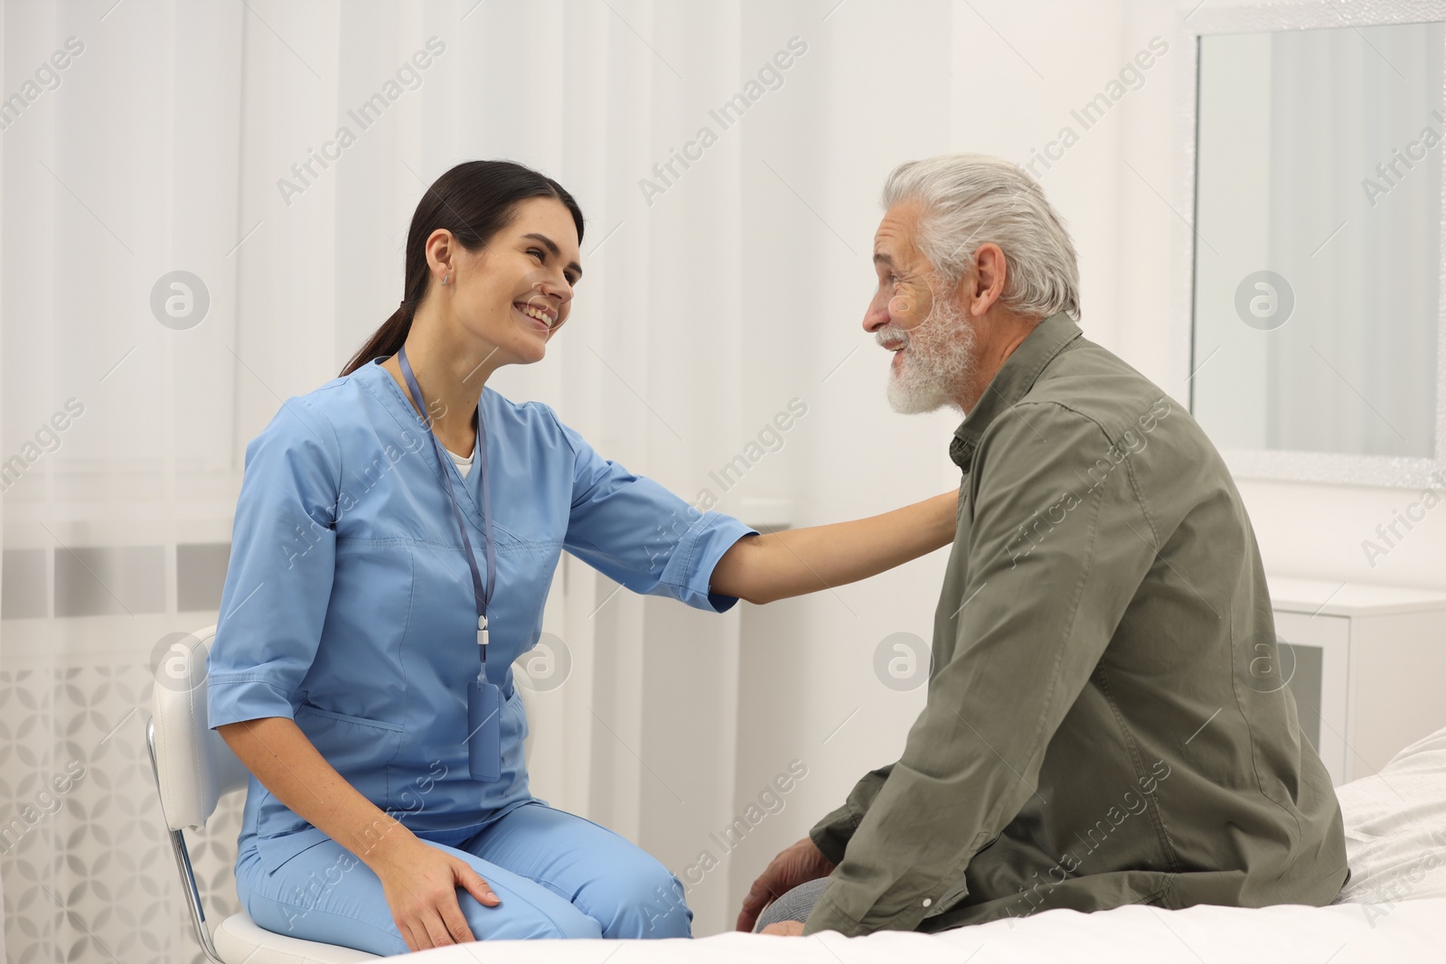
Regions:
[[949, 288], [973, 264], [980, 244], [1005, 254], [999, 301], [1021, 315], [1080, 318], [1074, 244], [1038, 182], [1018, 165], [989, 155], [938, 155], [907, 160], [884, 184], [884, 207], [920, 201], [915, 244]]

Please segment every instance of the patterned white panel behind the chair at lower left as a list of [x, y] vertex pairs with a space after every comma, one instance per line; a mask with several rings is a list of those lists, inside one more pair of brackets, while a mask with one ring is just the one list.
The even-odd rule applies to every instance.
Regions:
[[[145, 746], [146, 666], [0, 671], [0, 874], [12, 964], [204, 964]], [[241, 793], [191, 860], [214, 926], [240, 908]]]

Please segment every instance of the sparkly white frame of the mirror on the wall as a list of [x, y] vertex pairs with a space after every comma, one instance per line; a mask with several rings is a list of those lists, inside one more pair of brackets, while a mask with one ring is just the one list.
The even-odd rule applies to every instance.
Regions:
[[[1203, 6], [1203, 4], [1202, 4]], [[1181, 155], [1180, 207], [1190, 228], [1186, 244], [1180, 246], [1177, 277], [1184, 279], [1183, 299], [1184, 344], [1177, 358], [1184, 366], [1177, 373], [1177, 384], [1186, 389], [1187, 405], [1194, 416], [1194, 374], [1210, 363], [1210, 356], [1194, 357], [1194, 263], [1196, 244], [1196, 179], [1199, 176], [1196, 150], [1199, 139], [1200, 40], [1219, 33], [1265, 33], [1283, 30], [1314, 30], [1325, 27], [1364, 27], [1392, 23], [1446, 22], [1446, 0], [1332, 0], [1320, 3], [1278, 3], [1270, 6], [1194, 7], [1181, 23], [1189, 81], [1181, 84]], [[1446, 104], [1446, 78], [1442, 100]], [[1446, 110], [1446, 108], [1443, 108]], [[1446, 150], [1443, 143], [1440, 150]], [[1443, 165], [1446, 172], [1446, 165]], [[1342, 452], [1304, 452], [1259, 448], [1220, 448], [1220, 455], [1236, 478], [1265, 478], [1284, 481], [1313, 481], [1352, 486], [1381, 486], [1390, 489], [1446, 489], [1446, 173], [1442, 176], [1442, 275], [1437, 293], [1436, 334], [1436, 444], [1433, 458], [1395, 455], [1352, 455]]]

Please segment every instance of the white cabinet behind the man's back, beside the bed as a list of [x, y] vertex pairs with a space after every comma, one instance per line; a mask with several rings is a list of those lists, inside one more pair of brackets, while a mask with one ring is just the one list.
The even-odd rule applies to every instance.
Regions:
[[1268, 582], [1280, 673], [1333, 783], [1446, 727], [1446, 593]]

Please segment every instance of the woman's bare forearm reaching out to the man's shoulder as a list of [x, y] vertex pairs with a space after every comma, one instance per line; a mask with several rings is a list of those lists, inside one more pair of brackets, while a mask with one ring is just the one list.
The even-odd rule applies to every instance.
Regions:
[[865, 580], [953, 542], [959, 490], [881, 516], [745, 536], [713, 567], [709, 591], [772, 603]]

